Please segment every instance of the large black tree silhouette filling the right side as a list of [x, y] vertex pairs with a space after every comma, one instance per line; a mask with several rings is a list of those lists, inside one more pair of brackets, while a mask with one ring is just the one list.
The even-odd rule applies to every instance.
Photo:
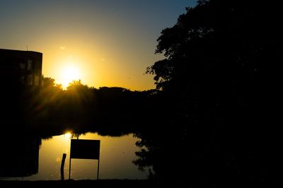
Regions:
[[158, 37], [156, 53], [166, 59], [146, 69], [165, 107], [156, 114], [156, 133], [165, 135], [158, 150], [171, 146], [165, 138], [174, 132], [175, 145], [191, 153], [174, 158], [185, 160], [178, 165], [191, 184], [278, 183], [279, 135], [270, 127], [278, 119], [278, 18], [275, 4], [198, 1]]

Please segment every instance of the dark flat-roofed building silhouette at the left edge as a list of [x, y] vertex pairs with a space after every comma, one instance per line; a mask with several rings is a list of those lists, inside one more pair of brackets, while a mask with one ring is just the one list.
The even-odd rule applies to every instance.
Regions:
[[8, 86], [40, 86], [42, 53], [0, 49], [0, 78]]

